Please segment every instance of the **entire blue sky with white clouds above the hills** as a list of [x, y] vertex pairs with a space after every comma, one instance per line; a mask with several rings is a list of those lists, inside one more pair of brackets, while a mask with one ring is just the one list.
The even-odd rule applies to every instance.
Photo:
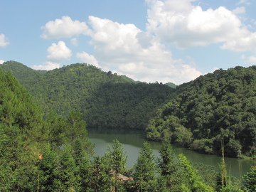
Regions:
[[72, 63], [181, 84], [256, 65], [252, 0], [0, 0], [0, 63]]

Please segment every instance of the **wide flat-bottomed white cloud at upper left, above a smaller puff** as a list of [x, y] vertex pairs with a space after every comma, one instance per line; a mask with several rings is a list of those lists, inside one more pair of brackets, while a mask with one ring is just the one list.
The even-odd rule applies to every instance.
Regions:
[[85, 22], [73, 21], [69, 16], [63, 16], [55, 21], [48, 21], [46, 26], [42, 26], [42, 38], [65, 38], [79, 34], [89, 34], [90, 29]]

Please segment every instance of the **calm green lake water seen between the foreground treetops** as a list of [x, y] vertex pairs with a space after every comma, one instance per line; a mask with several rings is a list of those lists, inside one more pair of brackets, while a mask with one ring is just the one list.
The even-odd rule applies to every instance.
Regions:
[[[114, 139], [118, 139], [124, 146], [124, 151], [128, 155], [127, 168], [132, 168], [136, 163], [139, 151], [146, 141], [141, 132], [127, 132], [127, 131], [99, 131], [88, 130], [88, 137], [92, 143], [95, 144], [95, 155], [103, 156], [107, 150], [107, 145], [111, 145]], [[154, 155], [159, 157], [159, 149], [161, 144], [159, 142], [150, 142]], [[189, 161], [193, 163], [203, 163], [210, 166], [215, 166], [218, 171], [218, 164], [221, 161], [220, 156], [198, 154], [195, 151], [190, 151], [181, 147], [173, 146], [176, 154], [185, 154]], [[255, 161], [225, 158], [227, 164], [228, 174], [240, 178], [250, 170], [250, 167], [255, 164]]]

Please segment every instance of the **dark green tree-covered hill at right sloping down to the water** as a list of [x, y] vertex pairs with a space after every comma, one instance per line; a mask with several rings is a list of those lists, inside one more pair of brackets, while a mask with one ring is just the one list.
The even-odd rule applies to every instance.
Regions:
[[253, 156], [256, 143], [256, 66], [215, 70], [181, 85], [147, 127], [147, 138], [207, 154]]

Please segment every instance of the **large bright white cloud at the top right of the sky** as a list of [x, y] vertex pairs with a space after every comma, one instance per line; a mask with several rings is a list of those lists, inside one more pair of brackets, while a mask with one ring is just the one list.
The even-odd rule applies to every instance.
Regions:
[[[192, 6], [191, 1], [182, 0], [182, 4], [180, 0], [147, 1], [147, 30], [161, 41], [174, 43], [178, 48], [229, 43], [241, 36], [252, 36], [232, 11], [223, 6], [203, 11], [201, 6]], [[244, 10], [240, 8], [236, 11], [242, 13]], [[223, 48], [236, 49], [231, 45]]]

